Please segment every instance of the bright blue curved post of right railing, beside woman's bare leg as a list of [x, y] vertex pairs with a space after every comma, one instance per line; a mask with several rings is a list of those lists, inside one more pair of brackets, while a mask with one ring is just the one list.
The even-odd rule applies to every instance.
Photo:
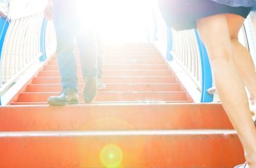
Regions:
[[207, 92], [207, 89], [212, 88], [212, 72], [209, 57], [204, 43], [199, 38], [197, 30], [195, 30], [196, 41], [198, 44], [198, 49], [201, 57], [201, 67], [202, 67], [202, 93], [201, 102], [213, 102], [213, 95]]

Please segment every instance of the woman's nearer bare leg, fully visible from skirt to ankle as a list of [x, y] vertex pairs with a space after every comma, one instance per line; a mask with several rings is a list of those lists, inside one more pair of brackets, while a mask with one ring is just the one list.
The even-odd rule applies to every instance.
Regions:
[[246, 161], [256, 167], [256, 130], [248, 106], [244, 83], [234, 63], [226, 15], [205, 17], [197, 22], [198, 31], [211, 60], [214, 81], [228, 118], [237, 130]]

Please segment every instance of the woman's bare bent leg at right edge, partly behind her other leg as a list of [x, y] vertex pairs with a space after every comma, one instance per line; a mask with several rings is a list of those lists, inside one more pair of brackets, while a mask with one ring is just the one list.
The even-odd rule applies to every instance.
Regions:
[[250, 56], [250, 52], [238, 41], [238, 33], [241, 26], [243, 26], [243, 17], [237, 15], [226, 15], [228, 22], [228, 29], [230, 32], [230, 39], [235, 54], [235, 63], [237, 70], [241, 75], [246, 88], [250, 93], [250, 100], [256, 103], [256, 72], [255, 66]]

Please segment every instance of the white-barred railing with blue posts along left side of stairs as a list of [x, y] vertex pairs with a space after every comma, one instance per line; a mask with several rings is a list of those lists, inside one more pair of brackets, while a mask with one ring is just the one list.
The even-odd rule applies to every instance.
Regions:
[[0, 97], [36, 61], [45, 61], [46, 52], [56, 44], [53, 24], [44, 20], [46, 3], [37, 1], [4, 2], [8, 9], [0, 19]]

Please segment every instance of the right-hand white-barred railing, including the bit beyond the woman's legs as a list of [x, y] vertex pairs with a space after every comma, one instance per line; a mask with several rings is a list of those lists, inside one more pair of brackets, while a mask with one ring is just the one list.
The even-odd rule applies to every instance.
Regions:
[[[157, 9], [158, 10], [158, 9]], [[161, 15], [158, 11], [157, 15]], [[175, 61], [184, 70], [187, 76], [195, 83], [196, 88], [201, 93], [200, 102], [212, 102], [214, 96], [208, 93], [208, 89], [212, 88], [212, 72], [207, 50], [204, 44], [200, 41], [198, 32], [196, 30], [175, 31], [164, 27], [163, 19], [157, 16], [157, 29], [160, 31], [157, 34], [162, 34], [160, 46], [162, 54], [163, 49], [166, 49], [166, 59], [168, 61]], [[163, 31], [166, 31], [163, 37]], [[256, 65], [256, 13], [248, 16], [241, 29], [239, 41], [250, 50], [253, 61]], [[166, 44], [166, 47], [163, 47]]]

